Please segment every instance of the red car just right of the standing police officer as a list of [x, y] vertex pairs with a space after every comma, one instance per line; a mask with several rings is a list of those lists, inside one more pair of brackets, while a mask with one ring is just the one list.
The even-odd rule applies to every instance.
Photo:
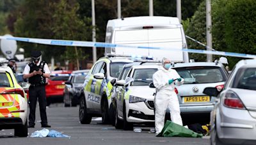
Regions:
[[45, 86], [47, 106], [53, 102], [63, 102], [63, 90], [65, 81], [68, 80], [72, 71], [52, 71], [51, 78], [47, 79]]

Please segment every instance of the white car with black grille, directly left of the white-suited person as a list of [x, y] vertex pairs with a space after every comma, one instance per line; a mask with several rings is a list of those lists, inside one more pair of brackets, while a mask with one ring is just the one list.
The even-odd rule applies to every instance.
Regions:
[[114, 87], [115, 127], [132, 130], [134, 123], [154, 122], [155, 88], [149, 88], [156, 64], [127, 64]]

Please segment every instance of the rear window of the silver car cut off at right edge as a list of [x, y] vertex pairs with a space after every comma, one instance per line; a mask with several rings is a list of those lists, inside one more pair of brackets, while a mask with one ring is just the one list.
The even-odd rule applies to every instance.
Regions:
[[256, 90], [256, 68], [242, 68], [237, 71], [232, 88]]

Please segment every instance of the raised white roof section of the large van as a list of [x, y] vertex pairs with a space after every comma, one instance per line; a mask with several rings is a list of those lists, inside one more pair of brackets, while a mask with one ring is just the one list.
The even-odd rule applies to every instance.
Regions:
[[108, 25], [113, 27], [129, 27], [140, 25], [180, 25], [179, 19], [176, 17], [128, 17], [117, 18], [108, 21]]

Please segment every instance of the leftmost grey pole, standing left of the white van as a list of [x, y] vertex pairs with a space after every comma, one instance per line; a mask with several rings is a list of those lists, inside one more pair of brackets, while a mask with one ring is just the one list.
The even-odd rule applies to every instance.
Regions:
[[[94, 0], [92, 0], [92, 41], [96, 42], [96, 30], [95, 30], [95, 3]], [[97, 50], [94, 46], [92, 48], [92, 56], [93, 56], [93, 63], [97, 60]]]

